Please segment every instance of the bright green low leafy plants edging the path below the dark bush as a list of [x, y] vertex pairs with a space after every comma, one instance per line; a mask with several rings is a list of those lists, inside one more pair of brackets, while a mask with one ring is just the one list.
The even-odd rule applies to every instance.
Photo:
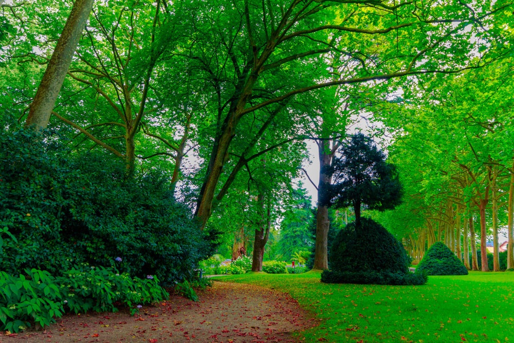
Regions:
[[167, 299], [156, 276], [144, 279], [113, 268], [80, 265], [54, 277], [38, 269], [19, 276], [0, 272], [0, 331], [18, 332], [33, 324], [48, 326], [65, 312], [114, 312], [116, 304], [138, 307]]

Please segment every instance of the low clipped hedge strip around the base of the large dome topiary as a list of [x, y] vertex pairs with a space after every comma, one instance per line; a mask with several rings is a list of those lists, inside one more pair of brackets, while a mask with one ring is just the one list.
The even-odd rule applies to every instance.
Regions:
[[336, 272], [323, 270], [321, 282], [325, 283], [356, 283], [356, 284], [382, 284], [382, 285], [423, 285], [427, 283], [428, 276], [425, 273], [391, 273], [376, 272]]

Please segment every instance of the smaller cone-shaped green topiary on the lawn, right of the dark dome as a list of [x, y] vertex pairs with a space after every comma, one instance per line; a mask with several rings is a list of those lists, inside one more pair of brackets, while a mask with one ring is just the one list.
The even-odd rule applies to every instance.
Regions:
[[442, 242], [436, 242], [428, 249], [416, 270], [427, 275], [468, 275], [462, 261]]

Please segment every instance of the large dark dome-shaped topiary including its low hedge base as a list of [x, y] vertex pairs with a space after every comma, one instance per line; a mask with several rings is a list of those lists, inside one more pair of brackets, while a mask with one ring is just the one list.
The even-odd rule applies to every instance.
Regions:
[[362, 218], [360, 226], [342, 229], [328, 257], [331, 270], [321, 281], [331, 283], [424, 284], [427, 278], [409, 272], [410, 259], [401, 243], [382, 225]]

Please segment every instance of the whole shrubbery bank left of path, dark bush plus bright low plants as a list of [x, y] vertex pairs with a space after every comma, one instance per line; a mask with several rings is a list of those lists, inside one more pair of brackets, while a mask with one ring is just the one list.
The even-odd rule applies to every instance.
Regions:
[[126, 178], [55, 136], [0, 135], [0, 320], [11, 332], [65, 312], [166, 299], [214, 245], [155, 172]]

